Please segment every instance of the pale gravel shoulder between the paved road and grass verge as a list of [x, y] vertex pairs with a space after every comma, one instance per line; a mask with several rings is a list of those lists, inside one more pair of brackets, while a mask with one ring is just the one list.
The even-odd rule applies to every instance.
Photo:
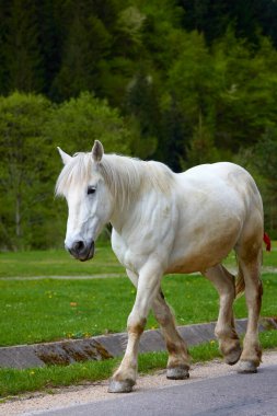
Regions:
[[[263, 355], [263, 365], [270, 366], [277, 363], [277, 350], [267, 350]], [[168, 385], [191, 384], [201, 380], [221, 375], [233, 374], [236, 366], [229, 367], [222, 360], [213, 360], [206, 363], [196, 363], [192, 367], [188, 380], [168, 380], [165, 370], [154, 374], [140, 375], [132, 393], [138, 394], [151, 389], [159, 389]], [[61, 407], [69, 407], [77, 404], [88, 404], [96, 401], [123, 397], [123, 394], [115, 395], [107, 393], [108, 380], [100, 383], [55, 389], [49, 393], [24, 394], [0, 404], [0, 415], [35, 415], [41, 412], [54, 411]]]

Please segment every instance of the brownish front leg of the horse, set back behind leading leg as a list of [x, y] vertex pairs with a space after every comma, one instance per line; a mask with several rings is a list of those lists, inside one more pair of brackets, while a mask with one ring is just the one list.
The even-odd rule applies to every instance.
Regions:
[[176, 330], [174, 316], [164, 300], [162, 291], [160, 291], [154, 299], [152, 310], [161, 326], [166, 348], [169, 350], [166, 369], [168, 379], [187, 379], [189, 377], [189, 356], [187, 347]]

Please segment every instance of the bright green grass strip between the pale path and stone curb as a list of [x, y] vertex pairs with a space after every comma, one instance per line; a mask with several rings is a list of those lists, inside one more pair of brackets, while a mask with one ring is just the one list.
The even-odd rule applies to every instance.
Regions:
[[[276, 315], [277, 278], [265, 274], [262, 315]], [[169, 276], [163, 292], [180, 325], [216, 321], [218, 294], [200, 276]], [[123, 332], [135, 300], [127, 278], [0, 280], [0, 346]], [[246, 316], [244, 297], [235, 316]], [[148, 328], [157, 327], [150, 315]], [[14, 328], [11, 331], [11, 328]]]

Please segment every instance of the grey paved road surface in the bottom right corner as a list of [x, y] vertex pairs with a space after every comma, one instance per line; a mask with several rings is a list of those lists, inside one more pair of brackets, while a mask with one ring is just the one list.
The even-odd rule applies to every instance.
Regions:
[[[35, 413], [32, 413], [33, 415]], [[257, 374], [230, 374], [152, 389], [91, 404], [37, 413], [44, 416], [276, 416], [277, 365]]]

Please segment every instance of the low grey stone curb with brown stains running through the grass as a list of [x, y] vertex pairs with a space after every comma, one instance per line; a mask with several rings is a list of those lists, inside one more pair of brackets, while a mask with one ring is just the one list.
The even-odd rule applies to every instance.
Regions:
[[[235, 326], [241, 335], [246, 331], [247, 320], [236, 320]], [[178, 326], [181, 336], [188, 346], [216, 339], [216, 322]], [[259, 332], [277, 330], [273, 317], [262, 319]], [[57, 343], [20, 345], [0, 348], [0, 368], [32, 368], [47, 365], [69, 365], [77, 361], [103, 360], [122, 356], [127, 345], [127, 333], [101, 335], [86, 339], [68, 339]], [[139, 351], [163, 351], [165, 344], [160, 330], [145, 331]]]

